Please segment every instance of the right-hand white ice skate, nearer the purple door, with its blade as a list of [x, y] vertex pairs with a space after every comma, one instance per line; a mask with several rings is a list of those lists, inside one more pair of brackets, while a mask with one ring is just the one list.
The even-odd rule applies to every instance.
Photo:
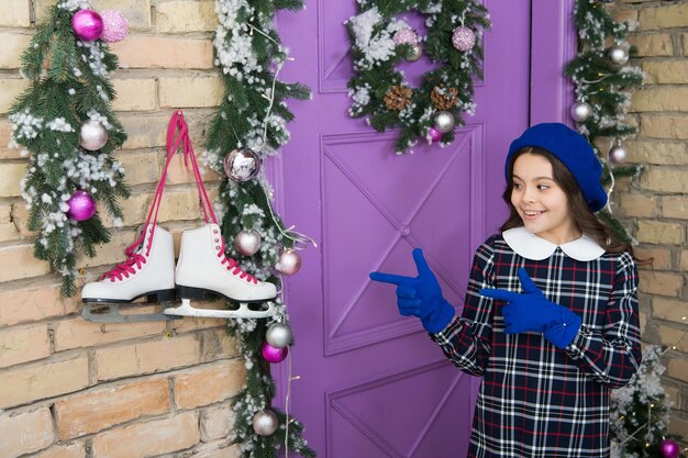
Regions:
[[[181, 305], [166, 309], [165, 313], [217, 319], [259, 319], [275, 314], [275, 305], [269, 302], [277, 295], [275, 284], [257, 280], [241, 270], [234, 259], [225, 256], [224, 242], [217, 223], [181, 234], [175, 279]], [[213, 297], [238, 303], [238, 309], [195, 309], [190, 304], [191, 299]], [[255, 310], [255, 305], [264, 306]]]

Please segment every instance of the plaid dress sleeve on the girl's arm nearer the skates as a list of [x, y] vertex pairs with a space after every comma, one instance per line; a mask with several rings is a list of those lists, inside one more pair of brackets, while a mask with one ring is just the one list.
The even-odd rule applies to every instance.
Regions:
[[493, 288], [493, 248], [490, 241], [476, 250], [462, 317], [454, 317], [431, 338], [444, 355], [464, 372], [482, 376], [491, 353], [492, 300], [479, 294], [482, 288]]

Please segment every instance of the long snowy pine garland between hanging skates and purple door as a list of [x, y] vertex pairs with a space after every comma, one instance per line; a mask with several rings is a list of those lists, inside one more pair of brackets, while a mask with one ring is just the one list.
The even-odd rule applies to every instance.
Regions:
[[[223, 172], [225, 157], [236, 148], [251, 148], [262, 160], [277, 154], [289, 141], [287, 122], [293, 120], [285, 100], [308, 100], [310, 89], [301, 83], [278, 79], [279, 70], [288, 60], [288, 51], [281, 45], [274, 19], [278, 10], [300, 11], [301, 0], [215, 0], [219, 26], [213, 40], [215, 65], [222, 74], [225, 94], [217, 115], [210, 123], [206, 139], [204, 163]], [[256, 278], [281, 288], [274, 266], [280, 253], [302, 238], [288, 231], [271, 209], [273, 191], [263, 174], [255, 179], [236, 182], [223, 180], [217, 210], [225, 241], [234, 241], [241, 231], [253, 230], [262, 239], [260, 249], [253, 256], [238, 253], [232, 243], [228, 249], [242, 269]], [[271, 322], [288, 323], [287, 311], [277, 298], [278, 313]], [[237, 444], [244, 458], [275, 458], [280, 449], [314, 457], [302, 438], [303, 425], [288, 418], [279, 409], [270, 406], [275, 398], [275, 381], [270, 367], [260, 356], [260, 347], [270, 323], [266, 320], [230, 320], [229, 331], [238, 337], [245, 359], [246, 386], [232, 400], [235, 412], [232, 443]], [[256, 412], [271, 410], [279, 428], [269, 436], [260, 436], [253, 428]]]

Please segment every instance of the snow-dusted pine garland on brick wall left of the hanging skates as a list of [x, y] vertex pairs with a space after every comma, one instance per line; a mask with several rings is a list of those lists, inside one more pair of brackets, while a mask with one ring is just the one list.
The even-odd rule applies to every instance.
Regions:
[[[77, 190], [87, 191], [118, 225], [122, 211], [116, 199], [130, 196], [124, 169], [112, 157], [126, 139], [112, 111], [115, 93], [108, 79], [118, 58], [103, 42], [75, 35], [71, 18], [86, 8], [85, 0], [65, 0], [49, 9], [22, 54], [22, 75], [31, 86], [10, 110], [12, 144], [22, 148], [22, 156], [31, 156], [21, 186], [29, 230], [35, 233], [34, 256], [62, 276], [64, 297], [76, 293], [78, 253], [93, 257], [96, 245], [110, 239], [99, 212], [87, 221], [69, 219], [68, 199]], [[110, 135], [97, 152], [79, 147], [81, 123], [89, 119]]]

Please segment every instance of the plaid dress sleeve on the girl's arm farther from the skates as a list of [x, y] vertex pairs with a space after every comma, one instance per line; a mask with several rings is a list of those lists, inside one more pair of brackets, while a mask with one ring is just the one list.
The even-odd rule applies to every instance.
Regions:
[[631, 381], [642, 358], [637, 269], [631, 255], [621, 256], [606, 315], [607, 324], [600, 331], [580, 326], [566, 353], [584, 372], [614, 389]]

